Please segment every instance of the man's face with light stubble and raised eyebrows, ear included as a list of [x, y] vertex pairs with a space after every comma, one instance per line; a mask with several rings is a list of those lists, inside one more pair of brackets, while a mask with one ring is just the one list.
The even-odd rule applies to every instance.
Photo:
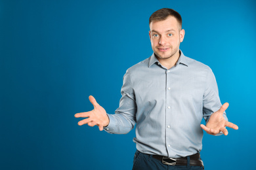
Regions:
[[184, 39], [184, 29], [173, 16], [168, 16], [163, 21], [150, 23], [150, 41], [152, 50], [160, 59], [169, 59], [179, 55], [179, 46]]

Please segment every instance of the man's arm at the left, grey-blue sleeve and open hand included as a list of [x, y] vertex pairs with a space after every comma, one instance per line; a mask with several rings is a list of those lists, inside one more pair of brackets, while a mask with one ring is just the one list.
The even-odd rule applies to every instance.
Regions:
[[133, 93], [131, 77], [128, 73], [123, 77], [123, 87], [121, 88], [121, 100], [116, 114], [107, 114], [106, 110], [96, 103], [93, 96], [89, 100], [94, 109], [89, 112], [75, 114], [76, 118], [86, 118], [78, 122], [78, 125], [88, 124], [98, 126], [100, 131], [103, 129], [108, 133], [125, 134], [135, 126], [135, 114], [137, 111], [135, 95]]

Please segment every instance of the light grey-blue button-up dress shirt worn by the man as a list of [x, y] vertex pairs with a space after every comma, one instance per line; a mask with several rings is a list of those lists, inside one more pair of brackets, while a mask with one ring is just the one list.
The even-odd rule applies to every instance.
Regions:
[[202, 150], [202, 118], [221, 108], [217, 82], [207, 65], [180, 53], [169, 70], [154, 54], [127, 70], [108, 133], [128, 133], [136, 124], [133, 141], [145, 154], [179, 158]]

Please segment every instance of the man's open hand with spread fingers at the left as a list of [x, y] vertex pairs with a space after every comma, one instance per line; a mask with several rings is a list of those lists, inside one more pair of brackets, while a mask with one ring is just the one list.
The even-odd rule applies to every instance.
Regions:
[[102, 131], [103, 127], [108, 126], [108, 124], [110, 123], [108, 115], [106, 114], [106, 110], [98, 105], [95, 97], [93, 97], [92, 95], [89, 96], [89, 100], [91, 101], [95, 109], [89, 112], [79, 112], [75, 114], [75, 118], [85, 118], [84, 120], [78, 122], [79, 126], [83, 124], [88, 124], [88, 126], [93, 127], [96, 125], [98, 126], [98, 129]]

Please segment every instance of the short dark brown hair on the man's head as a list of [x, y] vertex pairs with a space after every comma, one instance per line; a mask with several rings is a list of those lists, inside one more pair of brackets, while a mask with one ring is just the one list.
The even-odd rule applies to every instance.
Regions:
[[149, 20], [149, 24], [152, 21], [163, 21], [165, 20], [168, 16], [173, 16], [176, 18], [176, 20], [178, 21], [178, 23], [181, 25], [182, 27], [182, 18], [181, 15], [179, 14], [179, 12], [177, 12], [176, 10], [173, 9], [160, 9], [157, 10], [156, 12], [154, 12], [151, 16], [150, 16], [150, 20]]

